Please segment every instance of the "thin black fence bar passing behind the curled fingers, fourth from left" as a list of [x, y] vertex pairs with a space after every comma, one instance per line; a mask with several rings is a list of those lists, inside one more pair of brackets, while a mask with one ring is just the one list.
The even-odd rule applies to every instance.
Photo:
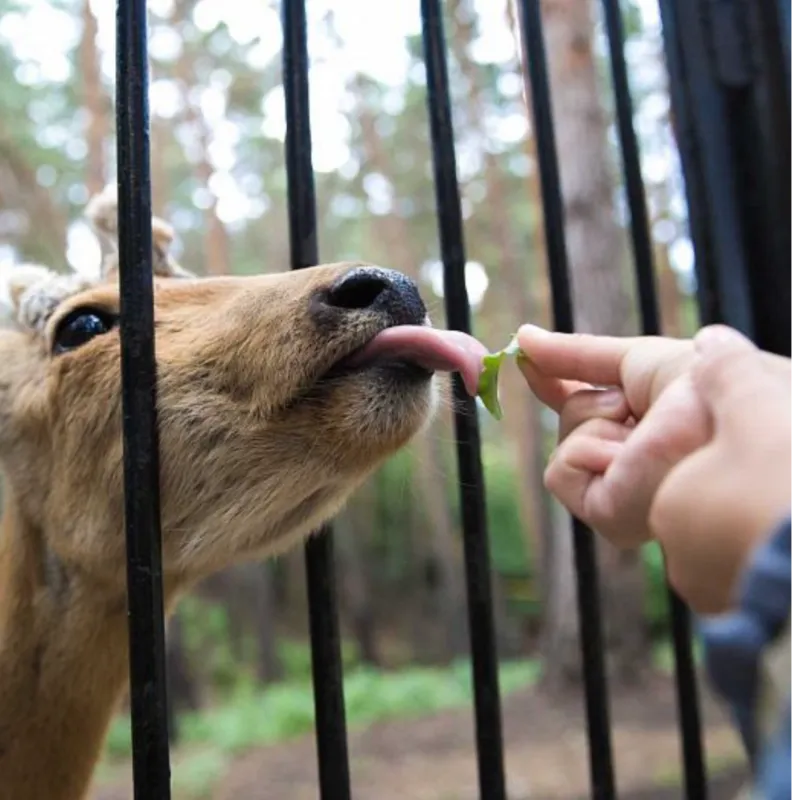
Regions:
[[[540, 0], [520, 0], [519, 8], [539, 158], [553, 318], [557, 330], [571, 332], [575, 323], [564, 231], [564, 203]], [[572, 525], [592, 797], [607, 800], [616, 796], [616, 785], [595, 542], [592, 532], [580, 520], [574, 519]]]

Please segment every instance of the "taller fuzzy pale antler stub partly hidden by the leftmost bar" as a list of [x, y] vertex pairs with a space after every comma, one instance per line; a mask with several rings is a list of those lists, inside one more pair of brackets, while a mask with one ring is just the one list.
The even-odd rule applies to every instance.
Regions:
[[[85, 207], [91, 227], [109, 245], [110, 252], [102, 265], [102, 277], [109, 279], [118, 271], [118, 189], [107, 185]], [[154, 274], [162, 278], [192, 278], [192, 273], [177, 264], [170, 255], [173, 228], [158, 217], [151, 219]]]

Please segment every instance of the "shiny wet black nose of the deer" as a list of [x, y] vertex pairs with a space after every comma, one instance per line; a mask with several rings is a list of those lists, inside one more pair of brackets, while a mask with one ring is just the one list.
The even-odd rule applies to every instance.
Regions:
[[356, 267], [328, 290], [324, 305], [345, 311], [376, 311], [394, 325], [420, 325], [426, 306], [418, 287], [406, 275], [381, 267]]

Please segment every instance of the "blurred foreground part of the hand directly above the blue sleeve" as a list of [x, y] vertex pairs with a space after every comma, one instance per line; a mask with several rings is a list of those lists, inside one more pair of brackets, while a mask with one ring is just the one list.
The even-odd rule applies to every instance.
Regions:
[[668, 470], [649, 527], [699, 613], [728, 610], [751, 552], [792, 511], [792, 372], [724, 327], [694, 340], [690, 385], [706, 443]]

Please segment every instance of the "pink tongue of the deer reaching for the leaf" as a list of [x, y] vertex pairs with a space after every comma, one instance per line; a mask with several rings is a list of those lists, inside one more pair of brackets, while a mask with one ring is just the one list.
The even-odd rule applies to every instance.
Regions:
[[468, 394], [475, 397], [482, 358], [487, 352], [481, 342], [460, 331], [397, 325], [377, 334], [348, 363], [359, 365], [379, 358], [391, 358], [411, 361], [432, 371], [459, 372]]

